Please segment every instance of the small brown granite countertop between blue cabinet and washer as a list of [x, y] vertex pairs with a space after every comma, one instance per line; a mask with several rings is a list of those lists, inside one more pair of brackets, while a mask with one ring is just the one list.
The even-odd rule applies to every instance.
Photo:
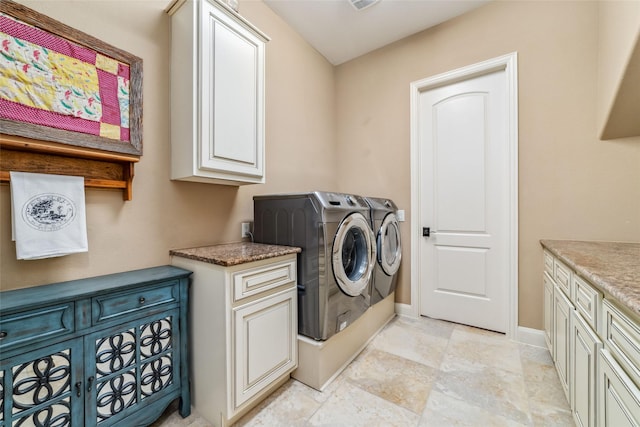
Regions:
[[173, 249], [170, 255], [229, 267], [281, 255], [295, 254], [302, 249], [292, 246], [265, 245], [263, 243], [226, 243], [199, 248]]

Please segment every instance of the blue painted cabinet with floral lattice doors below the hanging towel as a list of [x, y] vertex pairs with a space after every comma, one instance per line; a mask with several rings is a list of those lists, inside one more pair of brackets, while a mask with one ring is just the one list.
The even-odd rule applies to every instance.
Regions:
[[189, 415], [191, 272], [162, 266], [0, 293], [0, 427]]

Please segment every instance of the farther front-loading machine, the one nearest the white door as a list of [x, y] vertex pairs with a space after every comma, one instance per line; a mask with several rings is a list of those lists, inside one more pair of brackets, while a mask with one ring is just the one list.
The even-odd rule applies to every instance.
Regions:
[[395, 203], [377, 197], [364, 198], [369, 207], [371, 227], [376, 236], [376, 264], [369, 290], [369, 305], [382, 301], [396, 289], [402, 260], [400, 225]]

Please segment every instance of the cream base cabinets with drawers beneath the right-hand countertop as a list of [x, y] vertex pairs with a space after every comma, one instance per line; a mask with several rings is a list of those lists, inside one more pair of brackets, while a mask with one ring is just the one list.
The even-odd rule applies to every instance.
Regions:
[[545, 337], [576, 425], [640, 426], [637, 316], [548, 251], [543, 258]]

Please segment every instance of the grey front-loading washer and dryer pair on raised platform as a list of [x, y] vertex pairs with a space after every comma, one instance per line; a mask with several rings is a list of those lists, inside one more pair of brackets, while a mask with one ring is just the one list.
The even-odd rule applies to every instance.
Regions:
[[342, 193], [254, 197], [254, 241], [302, 248], [299, 334], [326, 340], [394, 291], [401, 259], [395, 210], [390, 200]]

